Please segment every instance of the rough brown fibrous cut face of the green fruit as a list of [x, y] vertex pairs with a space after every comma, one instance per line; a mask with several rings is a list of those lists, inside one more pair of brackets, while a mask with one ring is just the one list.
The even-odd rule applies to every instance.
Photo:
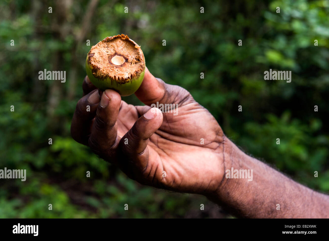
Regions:
[[88, 63], [95, 78], [110, 78], [119, 83], [139, 77], [145, 69], [140, 46], [123, 34], [107, 37], [92, 46]]

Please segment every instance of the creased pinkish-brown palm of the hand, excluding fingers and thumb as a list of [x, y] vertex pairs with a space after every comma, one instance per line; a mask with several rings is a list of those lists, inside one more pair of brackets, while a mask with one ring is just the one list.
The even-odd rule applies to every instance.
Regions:
[[[124, 136], [149, 108], [122, 101], [117, 119], [118, 136]], [[218, 172], [223, 169], [219, 148], [222, 130], [208, 110], [195, 101], [177, 110], [179, 115], [163, 113], [161, 127], [149, 139], [148, 165], [152, 166], [151, 169], [156, 168], [151, 173], [151, 185], [182, 192], [198, 192], [215, 182], [220, 176]], [[217, 150], [216, 154], [214, 150]], [[217, 167], [217, 173], [213, 171], [214, 166]], [[201, 177], [198, 172], [200, 169], [203, 170]]]

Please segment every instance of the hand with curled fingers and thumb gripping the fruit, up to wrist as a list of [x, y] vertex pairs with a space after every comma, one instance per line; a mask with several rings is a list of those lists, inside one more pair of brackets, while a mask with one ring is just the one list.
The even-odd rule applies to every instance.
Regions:
[[[88, 77], [83, 90], [71, 124], [74, 140], [141, 184], [205, 195], [218, 189], [224, 134], [187, 90], [165, 84], [147, 68], [135, 93], [145, 106], [127, 104], [114, 90], [100, 92]], [[177, 104], [176, 113], [150, 107], [157, 102]]]

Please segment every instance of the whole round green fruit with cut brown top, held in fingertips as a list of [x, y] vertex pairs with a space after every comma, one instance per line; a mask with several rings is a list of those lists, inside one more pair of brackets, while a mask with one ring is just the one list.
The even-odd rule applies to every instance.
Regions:
[[121, 96], [129, 96], [143, 81], [145, 58], [140, 46], [127, 35], [115, 35], [91, 47], [86, 71], [97, 88], [113, 89]]

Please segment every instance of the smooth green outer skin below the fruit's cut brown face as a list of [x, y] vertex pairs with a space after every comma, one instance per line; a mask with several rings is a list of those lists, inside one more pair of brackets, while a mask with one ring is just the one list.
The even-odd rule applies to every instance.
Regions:
[[120, 96], [130, 96], [138, 90], [139, 86], [143, 82], [145, 68], [144, 71], [140, 74], [138, 79], [132, 79], [124, 84], [119, 84], [115, 80], [111, 80], [111, 78], [106, 78], [106, 79], [95, 78], [91, 73], [91, 67], [88, 65], [88, 55], [87, 55], [86, 72], [91, 83], [93, 83], [98, 89], [100, 90], [113, 89], [116, 92], [118, 92]]

